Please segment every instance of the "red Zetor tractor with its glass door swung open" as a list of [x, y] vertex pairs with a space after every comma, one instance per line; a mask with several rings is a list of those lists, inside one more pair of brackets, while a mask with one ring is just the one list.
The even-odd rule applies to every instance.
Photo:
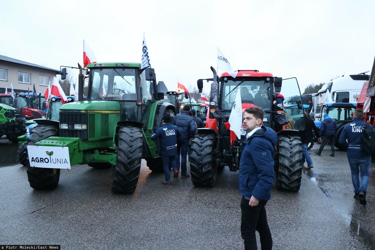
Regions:
[[[263, 125], [275, 129], [273, 101], [277, 93], [284, 95], [285, 112], [288, 112], [293, 129], [282, 126], [275, 148], [275, 173], [278, 189], [297, 191], [302, 178], [302, 143], [299, 130], [305, 129], [300, 89], [296, 78], [282, 79], [271, 73], [258, 70], [238, 70], [236, 78], [223, 73], [220, 78], [211, 67], [213, 78], [199, 79], [201, 93], [203, 80], [211, 84], [210, 106], [205, 128], [198, 129], [193, 137], [190, 154], [190, 173], [196, 186], [214, 186], [217, 170], [228, 166], [230, 171], [239, 170], [242, 141], [229, 130], [227, 122], [237, 91], [241, 91], [242, 112], [246, 108], [258, 106], [265, 111]], [[294, 122], [292, 122], [292, 120]]]

